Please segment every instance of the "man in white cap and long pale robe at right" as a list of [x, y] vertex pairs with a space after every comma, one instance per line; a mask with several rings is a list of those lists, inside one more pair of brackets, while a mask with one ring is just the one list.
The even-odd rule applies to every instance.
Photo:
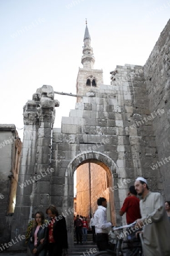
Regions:
[[142, 218], [137, 220], [137, 226], [143, 226], [141, 236], [144, 256], [170, 255], [170, 224], [164, 209], [164, 199], [158, 192], [150, 192], [147, 180], [138, 177], [135, 180], [135, 190], [142, 197], [140, 209]]

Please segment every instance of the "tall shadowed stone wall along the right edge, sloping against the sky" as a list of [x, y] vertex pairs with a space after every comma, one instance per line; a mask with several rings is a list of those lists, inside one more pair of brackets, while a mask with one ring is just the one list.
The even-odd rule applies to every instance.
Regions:
[[[170, 200], [170, 20], [160, 34], [146, 64], [144, 73], [146, 89], [151, 113], [160, 113], [153, 120], [155, 142], [158, 152], [158, 162], [154, 162], [154, 168], [160, 168], [163, 179], [165, 200]], [[153, 172], [154, 172], [153, 171]]]

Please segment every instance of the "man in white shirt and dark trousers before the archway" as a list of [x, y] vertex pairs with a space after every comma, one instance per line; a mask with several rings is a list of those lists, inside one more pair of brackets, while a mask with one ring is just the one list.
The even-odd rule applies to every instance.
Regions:
[[99, 251], [108, 249], [108, 232], [112, 227], [111, 222], [107, 222], [107, 200], [104, 197], [97, 199], [98, 208], [95, 212], [95, 230], [96, 230], [96, 243]]

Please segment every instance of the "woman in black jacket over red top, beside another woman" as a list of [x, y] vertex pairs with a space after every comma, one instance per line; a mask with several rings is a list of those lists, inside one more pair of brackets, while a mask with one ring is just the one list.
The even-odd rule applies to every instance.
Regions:
[[54, 205], [46, 209], [46, 214], [49, 217], [47, 233], [49, 256], [61, 256], [63, 249], [68, 248], [65, 217], [58, 214]]

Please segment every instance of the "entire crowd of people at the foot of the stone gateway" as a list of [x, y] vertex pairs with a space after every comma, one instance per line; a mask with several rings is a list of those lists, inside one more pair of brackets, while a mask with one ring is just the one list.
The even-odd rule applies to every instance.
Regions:
[[[139, 199], [140, 197], [140, 199]], [[142, 245], [143, 256], [170, 255], [170, 201], [163, 200], [158, 192], [151, 192], [147, 180], [138, 177], [120, 209], [120, 216], [126, 213], [127, 224], [135, 222], [134, 231], [128, 233], [128, 239], [137, 240]], [[61, 256], [67, 250], [67, 228], [64, 216], [58, 214], [54, 205], [46, 209], [48, 220], [44, 213], [38, 211], [35, 220], [28, 226], [28, 247], [36, 256]], [[99, 251], [109, 248], [108, 233], [112, 223], [107, 221], [107, 200], [97, 199], [97, 210], [92, 215], [90, 223], [86, 217], [76, 215], [74, 232], [76, 243], [87, 243], [87, 230], [92, 230], [92, 240]], [[127, 230], [128, 232], [128, 230]], [[48, 254], [47, 254], [48, 253]], [[138, 256], [139, 246], [128, 250], [126, 256]]]

